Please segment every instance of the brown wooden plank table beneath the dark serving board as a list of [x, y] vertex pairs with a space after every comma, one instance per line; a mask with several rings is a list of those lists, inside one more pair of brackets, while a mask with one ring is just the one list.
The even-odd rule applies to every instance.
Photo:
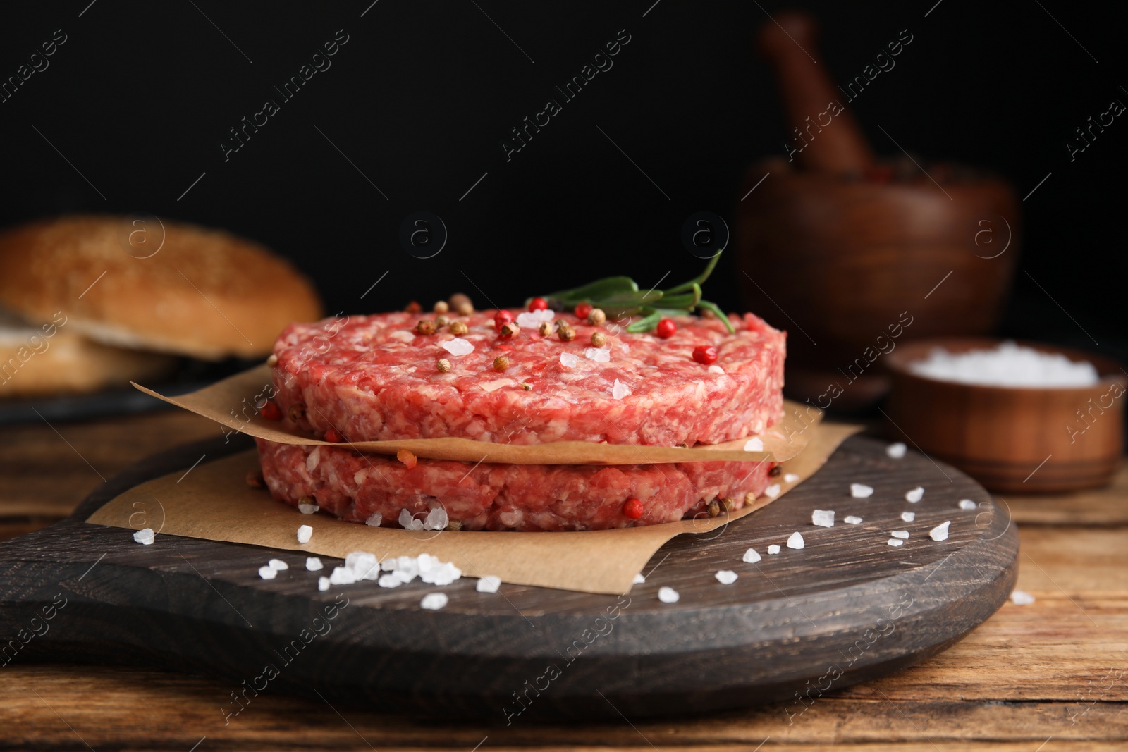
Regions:
[[[0, 538], [65, 516], [102, 478], [214, 435], [183, 413], [0, 428]], [[0, 665], [0, 746], [153, 750], [1128, 749], [1128, 465], [1073, 497], [1003, 499], [1022, 538], [1019, 589], [962, 643], [880, 681], [698, 718], [512, 726], [407, 719], [263, 695], [224, 726], [230, 687], [116, 666]], [[197, 745], [199, 746], [193, 746]]]

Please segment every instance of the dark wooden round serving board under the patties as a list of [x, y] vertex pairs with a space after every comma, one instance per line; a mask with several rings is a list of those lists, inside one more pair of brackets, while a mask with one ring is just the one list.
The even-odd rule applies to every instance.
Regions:
[[[442, 589], [449, 603], [430, 611], [420, 600], [437, 589], [418, 581], [319, 592], [305, 570], [262, 580], [268, 549], [168, 534], [140, 546], [127, 530], [83, 522], [201, 453], [210, 461], [249, 445], [209, 441], [150, 458], [73, 516], [0, 543], [0, 635], [17, 640], [0, 645], [0, 660], [217, 674], [231, 680], [233, 695], [217, 698], [231, 714], [256, 691], [502, 724], [766, 701], [801, 714], [822, 693], [949, 647], [1003, 604], [1016, 575], [1017, 532], [986, 490], [911, 451], [890, 459], [884, 442], [864, 436], [778, 502], [672, 539], [647, 564], [646, 582], [622, 596], [509, 584], [478, 593], [467, 577]], [[852, 498], [852, 483], [876, 490]], [[913, 504], [905, 493], [915, 486], [925, 494]], [[962, 498], [976, 508], [959, 508]], [[835, 525], [812, 525], [814, 508], [834, 510]], [[913, 522], [901, 520], [906, 511]], [[863, 522], [847, 524], [847, 515]], [[948, 540], [931, 540], [945, 520]], [[910, 533], [901, 547], [887, 543], [893, 530]], [[786, 547], [796, 531], [802, 550]], [[772, 543], [782, 551], [768, 555]], [[741, 560], [750, 547], [761, 560]], [[323, 558], [326, 572], [340, 564]], [[721, 584], [719, 569], [738, 580]], [[661, 602], [663, 586], [680, 600]]]

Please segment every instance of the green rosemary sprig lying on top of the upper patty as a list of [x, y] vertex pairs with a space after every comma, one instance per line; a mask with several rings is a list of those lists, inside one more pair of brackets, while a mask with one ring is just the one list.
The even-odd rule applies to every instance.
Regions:
[[708, 278], [716, 267], [721, 254], [710, 259], [705, 271], [688, 282], [669, 290], [651, 290], [640, 292], [638, 284], [628, 276], [609, 276], [585, 285], [562, 290], [549, 295], [544, 295], [552, 308], [571, 309], [579, 303], [589, 303], [596, 308], [601, 308], [608, 317], [617, 318], [622, 315], [640, 316], [633, 321], [627, 331], [650, 331], [658, 322], [668, 316], [680, 316], [693, 312], [695, 309], [713, 311], [719, 319], [724, 321], [729, 331], [735, 331], [729, 317], [725, 316], [716, 303], [702, 300], [702, 284]]

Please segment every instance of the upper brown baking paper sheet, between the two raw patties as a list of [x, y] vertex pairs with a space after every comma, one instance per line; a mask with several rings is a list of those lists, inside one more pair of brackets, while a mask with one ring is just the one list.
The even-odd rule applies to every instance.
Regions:
[[[460, 462], [501, 462], [505, 465], [656, 465], [668, 462], [737, 461], [781, 462], [795, 457], [803, 449], [796, 442], [803, 428], [821, 416], [814, 407], [784, 404], [784, 419], [757, 436], [764, 442], [763, 452], [746, 452], [744, 444], [752, 436], [721, 444], [698, 445], [693, 449], [677, 446], [643, 446], [638, 444], [599, 444], [584, 441], [558, 441], [547, 444], [494, 444], [473, 439], [405, 439], [397, 441], [356, 441], [333, 444], [312, 436], [288, 431], [281, 422], [267, 421], [255, 409], [256, 398], [272, 393], [273, 369], [263, 364], [228, 377], [210, 387], [178, 397], [165, 397], [138, 383], [134, 387], [228, 426], [231, 433], [245, 433], [280, 444], [316, 446], [347, 446], [377, 454], [395, 454], [406, 449], [416, 457]], [[800, 412], [802, 410], [802, 412]], [[703, 454], [707, 453], [707, 457]]]

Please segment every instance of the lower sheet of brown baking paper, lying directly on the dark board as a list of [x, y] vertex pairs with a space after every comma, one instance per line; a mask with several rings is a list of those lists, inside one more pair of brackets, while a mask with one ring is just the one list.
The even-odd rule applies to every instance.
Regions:
[[[271, 498], [265, 489], [247, 486], [246, 476], [258, 469], [252, 450], [150, 480], [108, 502], [87, 522], [160, 534], [249, 543], [266, 548], [344, 558], [351, 551], [370, 551], [381, 560], [389, 556], [431, 554], [453, 561], [465, 575], [496, 575], [502, 582], [556, 587], [585, 593], [619, 594], [666, 541], [681, 533], [705, 533], [766, 506], [813, 475], [835, 449], [860, 426], [810, 423], [802, 434], [805, 449], [783, 462], [781, 493], [761, 496], [752, 504], [719, 517], [702, 516], [642, 528], [584, 532], [478, 532], [370, 528], [328, 514], [301, 514], [289, 504]], [[800, 480], [788, 484], [784, 476]], [[298, 527], [308, 524], [314, 536], [299, 543]], [[781, 543], [783, 541], [779, 541]], [[733, 551], [733, 556], [739, 551]], [[263, 564], [270, 558], [263, 551]], [[309, 577], [298, 561], [288, 576]], [[331, 566], [319, 574], [327, 575]], [[283, 575], [287, 576], [287, 575]], [[374, 583], [372, 583], [374, 586]]]

